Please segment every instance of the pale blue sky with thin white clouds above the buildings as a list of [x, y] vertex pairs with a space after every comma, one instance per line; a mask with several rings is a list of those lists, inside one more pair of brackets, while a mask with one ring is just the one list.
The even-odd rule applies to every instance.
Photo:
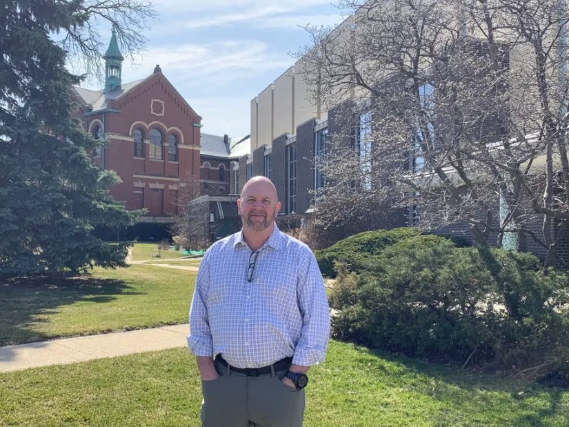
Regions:
[[[163, 75], [202, 117], [201, 132], [250, 134], [250, 101], [310, 43], [303, 26], [336, 26], [334, 0], [155, 1], [146, 52], [123, 62], [122, 81]], [[110, 39], [108, 34], [102, 34]], [[108, 41], [107, 41], [108, 43]], [[127, 55], [123, 52], [123, 56]], [[97, 81], [82, 86], [100, 89]]]

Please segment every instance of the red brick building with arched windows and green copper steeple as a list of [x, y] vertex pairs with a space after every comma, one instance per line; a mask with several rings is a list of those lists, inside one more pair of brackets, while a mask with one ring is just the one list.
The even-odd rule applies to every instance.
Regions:
[[123, 83], [114, 30], [103, 59], [103, 90], [72, 88], [83, 128], [108, 140], [92, 159], [121, 177], [110, 188], [115, 199], [128, 210], [146, 208], [141, 222], [168, 224], [177, 212], [180, 180], [188, 174], [199, 179], [201, 117], [159, 66], [146, 79]]

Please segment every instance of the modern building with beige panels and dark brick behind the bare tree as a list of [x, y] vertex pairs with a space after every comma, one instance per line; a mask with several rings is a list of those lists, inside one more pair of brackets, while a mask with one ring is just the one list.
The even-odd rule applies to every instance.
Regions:
[[[455, 19], [455, 15], [452, 19]], [[476, 26], [470, 26], [466, 21], [457, 20], [456, 22], [457, 34], [461, 34], [464, 40], [468, 40], [468, 43], [475, 46], [472, 50], [473, 54], [479, 54], [479, 49], [481, 46], [483, 49], [484, 46], [483, 41], [477, 41], [479, 30]], [[354, 28], [355, 23], [352, 17], [348, 17], [332, 32], [332, 36], [339, 41], [350, 43]], [[524, 54], [523, 47], [521, 50], [511, 50], [503, 66], [510, 67], [510, 70], [515, 70], [515, 72], [518, 70], [521, 72], [527, 65]], [[359, 93], [357, 89], [339, 90], [335, 101], [325, 104], [320, 99], [315, 99], [315, 92], [319, 93], [319, 91], [308, 88], [303, 78], [305, 69], [306, 61], [301, 57], [295, 66], [283, 72], [279, 78], [252, 99], [250, 102], [252, 155], [239, 160], [241, 185], [254, 175], [270, 177], [277, 187], [279, 199], [282, 202], [281, 214], [285, 215], [310, 214], [314, 202], [310, 192], [324, 185], [321, 174], [314, 167], [315, 160], [326, 152], [326, 141], [330, 137], [339, 135], [345, 129], [346, 110], [352, 115], [351, 123], [355, 123], [352, 128], [352, 146], [355, 149], [362, 150], [361, 136], [370, 130], [370, 110], [366, 102], [368, 94]], [[377, 78], [377, 84], [381, 85], [382, 81], [387, 82], [391, 77], [392, 75], [380, 75]], [[493, 127], [492, 123], [494, 123]], [[497, 133], [495, 132], [497, 123], [493, 118], [481, 123], [480, 128], [483, 139], [488, 139], [488, 142]], [[371, 145], [368, 148], [371, 149]], [[420, 160], [420, 157], [410, 159], [409, 167], [416, 168], [416, 163]], [[540, 161], [543, 163], [539, 160], [536, 165]], [[493, 212], [497, 221], [501, 218], [500, 202], [501, 200], [497, 198], [495, 212]], [[416, 212], [413, 206], [408, 209], [393, 210], [388, 223], [392, 227], [414, 224]], [[560, 230], [559, 225], [560, 223], [556, 224], [552, 232]], [[535, 230], [534, 235], [539, 235], [541, 221], [535, 221], [534, 224], [530, 224], [530, 227]], [[434, 231], [472, 240], [468, 225], [461, 221]], [[558, 245], [560, 247], [558, 253], [569, 259], [569, 228], [564, 237], [561, 236]], [[532, 239], [528, 239], [528, 248], [541, 256], [546, 252], [543, 242], [539, 243]]]

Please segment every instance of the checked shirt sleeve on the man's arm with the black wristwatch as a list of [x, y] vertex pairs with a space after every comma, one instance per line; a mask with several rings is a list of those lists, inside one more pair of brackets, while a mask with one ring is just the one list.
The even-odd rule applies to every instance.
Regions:
[[303, 326], [292, 363], [313, 366], [323, 362], [326, 357], [330, 337], [330, 308], [326, 286], [315, 256], [308, 250], [306, 256], [299, 261], [298, 299]]

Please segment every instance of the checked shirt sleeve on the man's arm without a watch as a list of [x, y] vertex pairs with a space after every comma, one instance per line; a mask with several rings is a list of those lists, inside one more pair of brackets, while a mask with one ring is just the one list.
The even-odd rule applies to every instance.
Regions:
[[196, 286], [190, 307], [190, 334], [187, 337], [188, 350], [196, 356], [211, 357], [213, 341], [206, 308], [206, 295], [209, 287], [210, 266], [208, 254], [203, 257], [197, 272]]

